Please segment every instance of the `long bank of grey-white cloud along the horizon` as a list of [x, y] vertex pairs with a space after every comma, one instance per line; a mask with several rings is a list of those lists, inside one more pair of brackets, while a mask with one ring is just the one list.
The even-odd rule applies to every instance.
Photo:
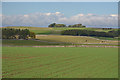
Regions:
[[[1, 17], [1, 15], [0, 15]], [[3, 26], [48, 26], [51, 23], [63, 23], [66, 25], [81, 23], [85, 26], [117, 27], [118, 15], [77, 14], [65, 17], [60, 12], [55, 13], [32, 13], [25, 15], [2, 15]]]

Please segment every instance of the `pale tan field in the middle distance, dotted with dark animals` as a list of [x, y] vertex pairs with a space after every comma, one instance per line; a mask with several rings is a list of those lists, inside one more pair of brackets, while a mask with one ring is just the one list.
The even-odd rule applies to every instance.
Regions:
[[[100, 40], [93, 37], [85, 37], [85, 36], [63, 36], [63, 35], [38, 35], [37, 39], [44, 41], [52, 41], [52, 42], [66, 42], [73, 44], [118, 44], [118, 41], [108, 41], [108, 40]], [[104, 42], [102, 42], [104, 41]]]

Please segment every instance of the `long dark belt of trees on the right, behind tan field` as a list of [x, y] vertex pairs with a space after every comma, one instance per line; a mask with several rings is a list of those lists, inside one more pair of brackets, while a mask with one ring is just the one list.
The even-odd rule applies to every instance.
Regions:
[[98, 32], [90, 30], [64, 30], [61, 32], [62, 35], [73, 35], [73, 36], [95, 36], [95, 37], [118, 37], [119, 31], [109, 31], [109, 32]]

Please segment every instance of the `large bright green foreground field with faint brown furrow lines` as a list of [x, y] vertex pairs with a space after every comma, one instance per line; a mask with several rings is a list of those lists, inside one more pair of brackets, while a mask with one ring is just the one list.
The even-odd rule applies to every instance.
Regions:
[[118, 78], [118, 48], [3, 47], [3, 78]]

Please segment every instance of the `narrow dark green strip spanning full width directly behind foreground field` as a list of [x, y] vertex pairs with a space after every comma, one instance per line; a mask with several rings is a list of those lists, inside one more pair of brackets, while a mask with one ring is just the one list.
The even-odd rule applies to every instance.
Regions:
[[3, 46], [21, 46], [21, 47], [35, 47], [35, 46], [119, 46], [118, 44], [72, 44], [67, 42], [52, 42], [52, 41], [43, 41], [43, 40], [3, 40]]

